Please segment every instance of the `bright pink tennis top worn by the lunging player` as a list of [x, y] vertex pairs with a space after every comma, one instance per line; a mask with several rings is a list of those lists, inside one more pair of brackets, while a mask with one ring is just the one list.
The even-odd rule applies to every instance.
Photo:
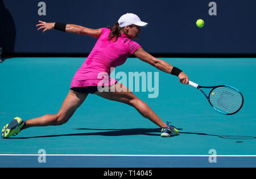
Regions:
[[[117, 41], [109, 41], [110, 29], [102, 28], [101, 36], [88, 58], [77, 70], [71, 82], [73, 87], [110, 86], [117, 80], [110, 78], [110, 68], [120, 66], [141, 46], [122, 33]], [[104, 83], [102, 83], [104, 80]]]

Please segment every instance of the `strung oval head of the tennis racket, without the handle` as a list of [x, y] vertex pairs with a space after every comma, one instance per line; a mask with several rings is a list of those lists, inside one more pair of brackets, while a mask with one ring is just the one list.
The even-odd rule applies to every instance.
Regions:
[[222, 113], [234, 113], [240, 109], [243, 99], [237, 90], [230, 87], [215, 88], [209, 96], [210, 103]]

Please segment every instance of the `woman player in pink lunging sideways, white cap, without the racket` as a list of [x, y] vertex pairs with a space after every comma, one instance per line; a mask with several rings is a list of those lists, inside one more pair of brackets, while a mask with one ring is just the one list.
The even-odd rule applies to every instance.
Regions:
[[[183, 71], [151, 56], [137, 42], [131, 40], [137, 39], [139, 33], [141, 33], [141, 27], [147, 26], [147, 23], [142, 22], [137, 15], [130, 13], [122, 15], [118, 23], [115, 23], [112, 28], [90, 29], [80, 25], [57, 22], [46, 23], [42, 21], [39, 21], [36, 26], [39, 27], [38, 30], [43, 29], [43, 33], [56, 29], [63, 32], [92, 36], [98, 40], [88, 58], [73, 77], [70, 91], [59, 112], [33, 118], [26, 122], [16, 117], [3, 127], [2, 138], [9, 138], [29, 127], [62, 125], [72, 117], [89, 93], [133, 106], [143, 117], [148, 118], [148, 120], [162, 128], [162, 137], [178, 135], [179, 131], [174, 126], [164, 123], [146, 103], [135, 96], [127, 87], [109, 77], [111, 67], [122, 65], [131, 54], [134, 54], [142, 61], [155, 66], [159, 70], [178, 76], [180, 83], [188, 84], [189, 82], [188, 76]], [[107, 74], [103, 77], [108, 83], [100, 84], [102, 76], [99, 74], [104, 73]], [[98, 87], [107, 87], [108, 90], [100, 92]]]

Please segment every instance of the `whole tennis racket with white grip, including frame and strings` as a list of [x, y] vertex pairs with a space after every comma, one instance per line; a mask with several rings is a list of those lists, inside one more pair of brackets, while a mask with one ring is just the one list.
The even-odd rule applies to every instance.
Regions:
[[[234, 87], [227, 85], [203, 87], [191, 81], [189, 81], [188, 84], [203, 92], [210, 105], [213, 109], [217, 110], [217, 112], [232, 115], [236, 114], [243, 106], [243, 95]], [[209, 95], [207, 96], [201, 88], [211, 89]]]

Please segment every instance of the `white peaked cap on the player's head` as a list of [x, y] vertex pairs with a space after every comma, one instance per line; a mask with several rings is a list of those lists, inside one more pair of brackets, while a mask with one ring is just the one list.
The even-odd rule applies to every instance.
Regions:
[[131, 24], [138, 25], [140, 27], [146, 27], [148, 25], [148, 23], [142, 22], [137, 15], [131, 13], [122, 15], [121, 18], [119, 18], [118, 23], [121, 28]]

